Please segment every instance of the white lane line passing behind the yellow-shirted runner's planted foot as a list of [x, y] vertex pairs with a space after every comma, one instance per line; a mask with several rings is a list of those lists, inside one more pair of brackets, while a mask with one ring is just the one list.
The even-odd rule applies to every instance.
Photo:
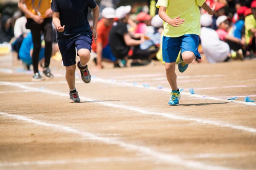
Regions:
[[[171, 89], [169, 88], [163, 88], [163, 89], [157, 89], [157, 87], [144, 87], [143, 85], [134, 85], [133, 83], [126, 83], [126, 82], [118, 82], [118, 81], [114, 81], [114, 80], [105, 80], [102, 78], [94, 78], [93, 82], [100, 82], [100, 83], [107, 83], [107, 84], [115, 84], [118, 86], [132, 86], [132, 87], [138, 87], [138, 88], [147, 88], [147, 89], [153, 89], [153, 90], [161, 90], [161, 91], [166, 91], [166, 92], [170, 92]], [[239, 103], [239, 104], [245, 104], [245, 105], [252, 105], [252, 106], [256, 106], [256, 103], [251, 103], [251, 102], [244, 102], [244, 101], [235, 101], [235, 100], [227, 100], [227, 99], [221, 99], [221, 98], [214, 98], [214, 97], [210, 97], [210, 96], [205, 96], [205, 95], [196, 95], [196, 94], [190, 94], [189, 92], [181, 92], [181, 95], [188, 95], [191, 96], [193, 98], [200, 98], [200, 99], [209, 99], [209, 100], [214, 100], [214, 101], [223, 101], [223, 102], [234, 102], [234, 103]]]

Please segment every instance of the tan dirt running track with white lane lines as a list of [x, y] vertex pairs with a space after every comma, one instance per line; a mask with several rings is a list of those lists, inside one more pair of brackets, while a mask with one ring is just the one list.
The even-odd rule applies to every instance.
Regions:
[[256, 170], [256, 102], [244, 101], [256, 100], [255, 59], [190, 64], [169, 106], [157, 61], [90, 62], [92, 81], [77, 70], [81, 103], [70, 103], [61, 62], [32, 82], [11, 57], [0, 56], [0, 170]]

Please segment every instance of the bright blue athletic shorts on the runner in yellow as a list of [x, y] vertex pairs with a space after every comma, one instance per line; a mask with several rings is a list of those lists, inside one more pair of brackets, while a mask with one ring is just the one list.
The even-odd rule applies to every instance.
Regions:
[[165, 37], [163, 36], [162, 53], [163, 61], [173, 63], [176, 61], [178, 54], [182, 52], [194, 52], [195, 57], [201, 59], [198, 52], [199, 36], [195, 34], [186, 34], [180, 37]]

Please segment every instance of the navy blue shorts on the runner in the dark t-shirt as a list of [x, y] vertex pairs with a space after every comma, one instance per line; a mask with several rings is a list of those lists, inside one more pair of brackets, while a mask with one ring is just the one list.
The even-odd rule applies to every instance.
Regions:
[[58, 42], [64, 66], [76, 64], [76, 49], [88, 49], [91, 51], [93, 39], [89, 35], [80, 35], [67, 41]]

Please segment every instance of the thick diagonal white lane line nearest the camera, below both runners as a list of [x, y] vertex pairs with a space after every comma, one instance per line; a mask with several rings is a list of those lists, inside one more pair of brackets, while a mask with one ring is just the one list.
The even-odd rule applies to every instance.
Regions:
[[152, 158], [155, 158], [159, 161], [164, 161], [165, 163], [168, 163], [168, 164], [177, 164], [179, 166], [195, 168], [197, 170], [198, 169], [201, 169], [201, 170], [234, 170], [234, 169], [228, 168], [228, 167], [220, 167], [220, 166], [204, 164], [204, 163], [198, 162], [198, 161], [184, 160], [180, 156], [175, 155], [175, 154], [160, 153], [160, 152], [152, 150], [148, 147], [139, 146], [139, 145], [135, 145], [135, 144], [128, 144], [123, 141], [118, 141], [115, 138], [101, 137], [101, 136], [97, 136], [93, 133], [83, 132], [83, 131], [74, 129], [72, 127], [67, 127], [67, 126], [58, 125], [58, 124], [50, 124], [50, 123], [46, 123], [43, 121], [33, 120], [33, 119], [30, 119], [30, 118], [27, 118], [27, 117], [21, 116], [21, 115], [13, 115], [13, 114], [5, 113], [5, 112], [0, 112], [0, 115], [5, 115], [10, 118], [15, 118], [17, 120], [26, 121], [26, 122], [29, 122], [32, 124], [38, 124], [38, 125], [45, 126], [45, 127], [51, 127], [51, 128], [54, 128], [54, 129], [57, 129], [57, 130], [60, 130], [62, 132], [66, 132], [66, 133], [81, 135], [82, 137], [87, 138], [89, 140], [95, 140], [95, 141], [103, 142], [105, 144], [118, 145], [119, 147], [123, 147], [127, 150], [134, 150], [139, 153], [143, 153], [143, 154], [151, 156]]

